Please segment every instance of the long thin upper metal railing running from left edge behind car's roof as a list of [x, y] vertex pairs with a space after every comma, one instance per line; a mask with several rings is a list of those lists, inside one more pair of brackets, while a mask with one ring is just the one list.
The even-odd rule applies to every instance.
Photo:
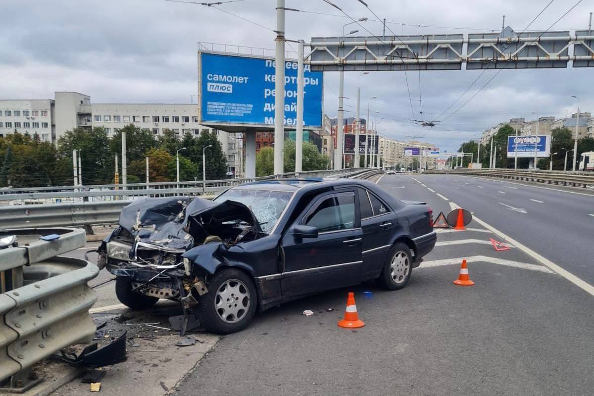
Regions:
[[[222, 179], [194, 182], [133, 183], [127, 185], [50, 186], [36, 188], [0, 189], [0, 206], [23, 204], [74, 203], [79, 201], [113, 201], [115, 199], [137, 199], [138, 197], [169, 197], [172, 195], [216, 195], [231, 186], [273, 179], [345, 177], [355, 172], [366, 172], [367, 168], [342, 170], [312, 170], [301, 173], [282, 173], [251, 179]], [[122, 189], [122, 188], [126, 189]]]

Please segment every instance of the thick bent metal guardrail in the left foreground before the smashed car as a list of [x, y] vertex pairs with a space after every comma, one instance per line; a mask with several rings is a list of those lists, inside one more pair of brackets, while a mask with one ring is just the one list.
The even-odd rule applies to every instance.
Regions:
[[[72, 344], [90, 342], [96, 302], [87, 281], [99, 274], [83, 259], [56, 256], [84, 246], [81, 229], [18, 229], [19, 246], [0, 249], [0, 382]], [[56, 240], [40, 240], [58, 234]], [[10, 282], [7, 282], [10, 280]]]

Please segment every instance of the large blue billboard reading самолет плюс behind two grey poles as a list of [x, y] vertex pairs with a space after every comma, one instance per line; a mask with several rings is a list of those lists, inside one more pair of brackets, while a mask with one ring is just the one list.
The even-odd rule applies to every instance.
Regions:
[[[274, 125], [273, 59], [200, 52], [201, 122]], [[304, 67], [304, 125], [321, 128], [323, 73]], [[297, 62], [285, 62], [285, 126], [297, 123]]]

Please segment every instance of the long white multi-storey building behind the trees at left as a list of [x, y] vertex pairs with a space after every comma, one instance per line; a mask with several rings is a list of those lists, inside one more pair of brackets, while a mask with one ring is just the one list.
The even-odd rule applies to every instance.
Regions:
[[169, 130], [181, 137], [214, 131], [226, 151], [229, 172], [239, 172], [243, 158], [241, 134], [211, 129], [198, 122], [198, 104], [91, 103], [86, 94], [57, 91], [54, 99], [0, 100], [0, 137], [20, 133], [38, 134], [56, 144], [70, 129], [102, 126], [109, 136], [132, 124], [162, 135]]

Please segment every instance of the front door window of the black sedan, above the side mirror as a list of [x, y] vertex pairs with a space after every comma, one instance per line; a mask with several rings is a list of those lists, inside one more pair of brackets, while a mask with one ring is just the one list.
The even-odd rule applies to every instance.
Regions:
[[355, 195], [332, 195], [323, 199], [307, 214], [306, 226], [314, 226], [319, 232], [346, 230], [355, 224]]

